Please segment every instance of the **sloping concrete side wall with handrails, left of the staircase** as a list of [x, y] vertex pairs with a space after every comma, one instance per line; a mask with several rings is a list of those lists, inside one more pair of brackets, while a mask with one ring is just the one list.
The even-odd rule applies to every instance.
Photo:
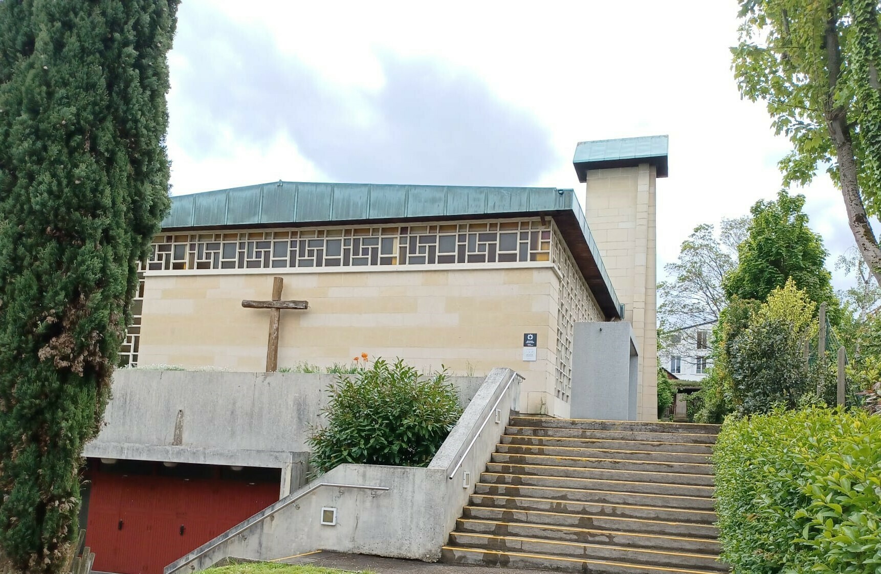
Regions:
[[[519, 410], [520, 380], [494, 369], [428, 467], [336, 467], [165, 573], [203, 570], [229, 556], [275, 560], [315, 549], [437, 560], [509, 414]], [[335, 526], [321, 524], [322, 508], [337, 509]]]

